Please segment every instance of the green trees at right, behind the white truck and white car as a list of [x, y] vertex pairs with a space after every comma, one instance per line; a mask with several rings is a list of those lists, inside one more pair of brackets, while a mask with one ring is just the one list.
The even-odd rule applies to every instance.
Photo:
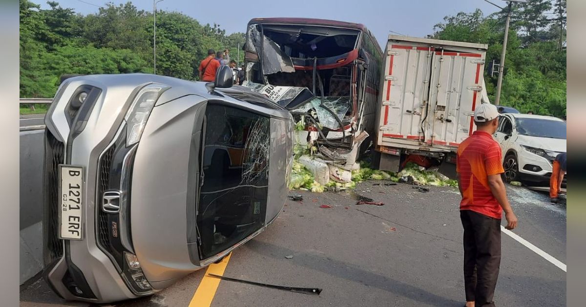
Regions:
[[[500, 104], [521, 112], [565, 116], [565, 0], [529, 0], [512, 6], [505, 74]], [[489, 74], [492, 61], [498, 64], [505, 34], [506, 8], [489, 16], [477, 9], [446, 16], [434, 27], [435, 39], [488, 44], [485, 81], [494, 100], [498, 71]]]

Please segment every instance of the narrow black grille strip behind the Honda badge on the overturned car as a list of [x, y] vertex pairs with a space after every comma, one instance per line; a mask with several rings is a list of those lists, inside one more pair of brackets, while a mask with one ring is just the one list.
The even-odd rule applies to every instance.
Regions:
[[103, 156], [100, 158], [100, 178], [99, 191], [98, 191], [98, 203], [97, 214], [98, 214], [98, 242], [100, 245], [107, 249], [110, 247], [110, 235], [108, 234], [108, 213], [101, 210], [101, 195], [108, 190], [110, 186], [110, 166], [112, 165], [112, 158], [116, 147], [113, 145], [110, 149], [106, 150]]

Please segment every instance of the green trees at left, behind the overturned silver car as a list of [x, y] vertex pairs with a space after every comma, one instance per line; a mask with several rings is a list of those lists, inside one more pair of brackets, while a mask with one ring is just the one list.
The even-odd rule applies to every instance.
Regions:
[[[50, 9], [40, 9], [20, 0], [21, 97], [52, 97], [62, 74], [153, 73], [152, 12], [127, 2], [83, 16], [57, 2], [47, 4]], [[220, 25], [156, 12], [157, 74], [196, 80], [207, 49], [230, 49], [236, 60], [238, 43], [244, 43], [244, 33], [226, 35]]]

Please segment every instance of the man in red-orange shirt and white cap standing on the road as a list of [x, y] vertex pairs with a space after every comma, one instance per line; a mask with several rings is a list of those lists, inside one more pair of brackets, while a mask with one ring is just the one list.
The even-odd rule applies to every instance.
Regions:
[[456, 172], [462, 195], [460, 219], [464, 227], [464, 287], [466, 307], [495, 306], [500, 267], [500, 219], [506, 229], [517, 227], [507, 199], [502, 152], [493, 138], [499, 126], [496, 106], [481, 104], [474, 111], [476, 131], [458, 146]]

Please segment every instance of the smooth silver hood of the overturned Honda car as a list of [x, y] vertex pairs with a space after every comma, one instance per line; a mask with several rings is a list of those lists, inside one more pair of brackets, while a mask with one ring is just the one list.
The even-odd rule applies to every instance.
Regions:
[[[196, 114], [205, 99], [190, 95], [155, 106], [142, 133], [132, 173], [132, 243], [154, 288], [196, 270], [187, 231], [189, 153]], [[201, 130], [201, 129], [200, 129]], [[192, 207], [195, 206], [195, 203]]]

